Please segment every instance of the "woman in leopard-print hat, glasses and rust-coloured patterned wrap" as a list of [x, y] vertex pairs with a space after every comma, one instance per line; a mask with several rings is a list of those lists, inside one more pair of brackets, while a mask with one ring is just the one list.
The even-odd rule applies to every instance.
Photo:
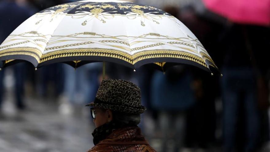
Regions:
[[140, 88], [126, 80], [102, 80], [91, 115], [95, 123], [95, 146], [88, 152], [155, 152], [137, 125], [146, 108], [141, 105]]

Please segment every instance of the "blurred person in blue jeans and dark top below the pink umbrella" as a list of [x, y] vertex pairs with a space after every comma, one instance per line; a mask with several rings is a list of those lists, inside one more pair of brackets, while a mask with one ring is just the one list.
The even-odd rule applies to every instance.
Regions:
[[[245, 25], [226, 27], [221, 79], [224, 151], [256, 151], [259, 137], [257, 72]], [[257, 45], [257, 44], [256, 44]], [[241, 129], [240, 129], [241, 128]]]

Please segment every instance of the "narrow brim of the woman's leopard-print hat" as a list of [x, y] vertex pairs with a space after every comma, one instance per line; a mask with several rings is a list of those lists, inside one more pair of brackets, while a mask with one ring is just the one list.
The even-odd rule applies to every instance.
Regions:
[[132, 113], [132, 114], [142, 114], [146, 110], [145, 106], [127, 107], [123, 105], [112, 105], [112, 104], [94, 103], [94, 102], [91, 102], [85, 106], [98, 107], [101, 109], [110, 109], [113, 111], [120, 111], [120, 112]]

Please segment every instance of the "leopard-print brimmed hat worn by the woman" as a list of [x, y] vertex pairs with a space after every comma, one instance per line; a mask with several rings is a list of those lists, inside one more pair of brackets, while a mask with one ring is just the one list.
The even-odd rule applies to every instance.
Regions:
[[141, 105], [141, 90], [136, 84], [114, 79], [102, 80], [95, 101], [86, 106], [132, 114], [141, 114], [146, 110]]

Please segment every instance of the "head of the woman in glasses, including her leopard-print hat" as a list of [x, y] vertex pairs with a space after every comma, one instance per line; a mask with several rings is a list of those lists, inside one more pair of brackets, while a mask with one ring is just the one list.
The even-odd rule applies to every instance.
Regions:
[[120, 125], [137, 125], [141, 121], [140, 114], [146, 108], [141, 105], [141, 90], [130, 81], [102, 80], [95, 101], [86, 106], [94, 107], [94, 123], [99, 127], [110, 121]]

